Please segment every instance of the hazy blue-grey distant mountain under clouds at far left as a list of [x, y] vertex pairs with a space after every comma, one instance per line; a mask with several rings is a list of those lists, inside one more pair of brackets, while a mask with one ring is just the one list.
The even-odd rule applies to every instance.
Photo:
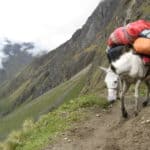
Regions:
[[30, 64], [34, 56], [30, 50], [34, 49], [33, 43], [14, 43], [5, 41], [4, 47], [0, 50], [3, 54], [0, 68], [0, 84], [5, 80], [12, 79], [18, 72]]

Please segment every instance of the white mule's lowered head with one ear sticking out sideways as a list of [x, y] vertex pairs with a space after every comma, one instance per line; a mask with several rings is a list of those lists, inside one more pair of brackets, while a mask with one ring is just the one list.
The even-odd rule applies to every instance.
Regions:
[[106, 73], [105, 83], [108, 89], [108, 101], [114, 101], [118, 96], [118, 89], [120, 84], [119, 75], [117, 75], [111, 68], [100, 67]]

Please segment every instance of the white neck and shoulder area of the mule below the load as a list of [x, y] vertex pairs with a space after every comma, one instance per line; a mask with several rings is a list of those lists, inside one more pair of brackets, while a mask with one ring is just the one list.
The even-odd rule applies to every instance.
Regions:
[[117, 60], [110, 63], [110, 69], [119, 75], [126, 74], [132, 78], [144, 78], [148, 72], [141, 57], [130, 49], [123, 53]]

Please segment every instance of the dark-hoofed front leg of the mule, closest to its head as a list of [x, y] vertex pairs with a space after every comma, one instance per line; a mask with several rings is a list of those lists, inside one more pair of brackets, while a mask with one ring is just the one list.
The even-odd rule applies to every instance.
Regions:
[[121, 99], [121, 112], [122, 112], [122, 116], [124, 118], [127, 118], [128, 117], [128, 113], [126, 111], [126, 108], [125, 108], [125, 103], [124, 103], [124, 97], [125, 97], [125, 93], [128, 91], [129, 89], [129, 84], [127, 84], [126, 81], [123, 81], [123, 87], [122, 87], [122, 92], [121, 92], [121, 96], [120, 96], [120, 99]]

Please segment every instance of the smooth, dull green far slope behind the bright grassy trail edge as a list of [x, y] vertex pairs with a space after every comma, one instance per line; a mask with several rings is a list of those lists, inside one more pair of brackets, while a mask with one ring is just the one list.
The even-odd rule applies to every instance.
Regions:
[[48, 113], [64, 101], [77, 97], [84, 86], [85, 76], [86, 71], [35, 100], [22, 104], [11, 114], [2, 118], [0, 120], [0, 138], [5, 138], [10, 131], [19, 128], [25, 119], [38, 119], [40, 115]]

